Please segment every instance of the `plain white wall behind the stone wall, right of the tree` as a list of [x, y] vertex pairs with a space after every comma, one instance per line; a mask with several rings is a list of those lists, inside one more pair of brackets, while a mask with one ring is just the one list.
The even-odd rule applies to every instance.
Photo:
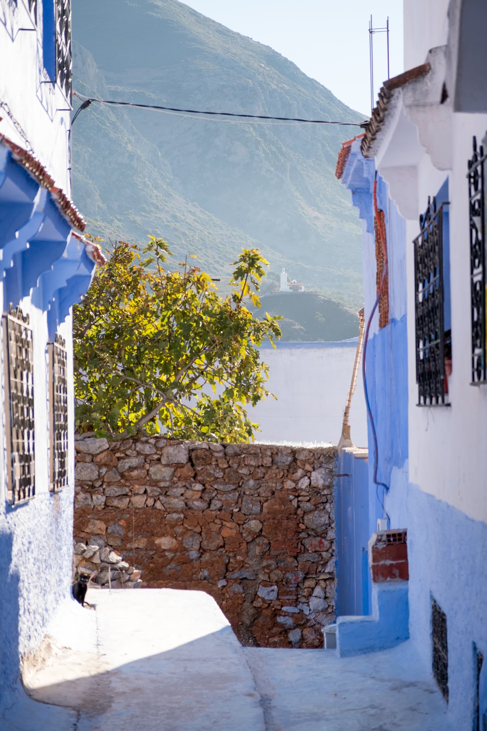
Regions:
[[[337, 343], [278, 343], [261, 346], [269, 366], [266, 398], [249, 416], [260, 424], [256, 441], [337, 444], [352, 378], [358, 338]], [[361, 371], [350, 409], [351, 438], [367, 447], [367, 412]]]

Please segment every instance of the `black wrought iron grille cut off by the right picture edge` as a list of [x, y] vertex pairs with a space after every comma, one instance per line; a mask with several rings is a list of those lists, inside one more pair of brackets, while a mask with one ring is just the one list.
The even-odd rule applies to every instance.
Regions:
[[486, 370], [486, 189], [483, 145], [473, 154], [467, 173], [470, 216], [470, 303], [472, 323], [472, 385], [487, 382]]

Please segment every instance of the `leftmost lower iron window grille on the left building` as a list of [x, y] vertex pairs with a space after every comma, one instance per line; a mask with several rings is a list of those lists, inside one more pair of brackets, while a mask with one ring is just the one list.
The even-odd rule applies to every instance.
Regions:
[[7, 448], [7, 501], [35, 495], [34, 354], [28, 315], [9, 305], [4, 326], [4, 395]]

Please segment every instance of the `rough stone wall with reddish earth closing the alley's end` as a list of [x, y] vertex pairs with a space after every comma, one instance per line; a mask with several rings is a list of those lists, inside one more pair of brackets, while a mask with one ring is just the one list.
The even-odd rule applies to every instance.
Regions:
[[145, 586], [207, 591], [245, 645], [321, 646], [334, 621], [334, 447], [139, 437], [76, 451], [75, 540], [116, 548]]

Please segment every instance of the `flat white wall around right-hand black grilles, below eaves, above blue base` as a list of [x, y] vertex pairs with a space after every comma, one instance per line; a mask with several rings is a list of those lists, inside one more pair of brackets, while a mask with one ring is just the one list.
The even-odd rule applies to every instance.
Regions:
[[[415, 382], [414, 289], [407, 288], [409, 359], [409, 469], [410, 482], [466, 513], [487, 521], [487, 387], [470, 385], [471, 327], [469, 283], [469, 207], [467, 159], [472, 156], [472, 136], [478, 143], [487, 130], [486, 115], [454, 114], [452, 169], [436, 170], [424, 155], [418, 167], [418, 199], [426, 208], [449, 175], [450, 287], [453, 373], [448, 379], [451, 406], [418, 407]], [[418, 235], [418, 221], [407, 222], [407, 238]], [[407, 248], [407, 281], [414, 281], [413, 244]]]

